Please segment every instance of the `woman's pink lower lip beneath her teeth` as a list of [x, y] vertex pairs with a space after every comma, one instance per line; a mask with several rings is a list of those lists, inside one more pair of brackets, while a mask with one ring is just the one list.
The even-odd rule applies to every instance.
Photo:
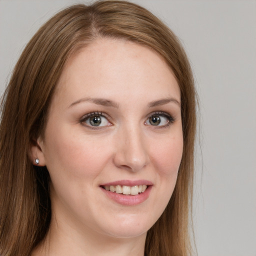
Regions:
[[115, 192], [108, 191], [103, 187], [100, 187], [101, 190], [113, 201], [127, 206], [137, 205], [144, 202], [148, 197], [151, 191], [152, 186], [148, 186], [143, 193], [136, 194], [136, 195], [125, 195], [125, 194], [118, 194]]

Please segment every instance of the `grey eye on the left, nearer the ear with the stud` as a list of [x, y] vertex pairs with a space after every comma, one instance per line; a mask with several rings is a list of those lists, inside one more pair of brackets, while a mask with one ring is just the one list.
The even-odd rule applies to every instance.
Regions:
[[111, 125], [111, 123], [107, 120], [107, 117], [99, 112], [92, 112], [86, 114], [82, 117], [80, 122], [90, 127], [101, 127]]

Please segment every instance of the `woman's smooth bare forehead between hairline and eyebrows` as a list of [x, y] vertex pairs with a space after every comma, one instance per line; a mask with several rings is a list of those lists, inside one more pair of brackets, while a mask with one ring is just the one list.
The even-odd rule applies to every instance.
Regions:
[[136, 93], [144, 97], [150, 92], [180, 98], [172, 70], [159, 54], [138, 43], [116, 39], [97, 39], [72, 55], [56, 88], [56, 94], [70, 98], [79, 93], [109, 98]]

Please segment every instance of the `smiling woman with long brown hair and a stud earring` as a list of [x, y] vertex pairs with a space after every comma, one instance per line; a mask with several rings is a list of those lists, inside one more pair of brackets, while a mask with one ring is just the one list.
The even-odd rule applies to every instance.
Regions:
[[150, 12], [60, 11], [28, 42], [1, 106], [1, 255], [192, 253], [193, 78]]

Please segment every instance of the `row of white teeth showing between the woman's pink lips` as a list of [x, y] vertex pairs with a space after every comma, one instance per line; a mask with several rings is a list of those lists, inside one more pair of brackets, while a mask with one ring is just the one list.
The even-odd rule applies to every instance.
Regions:
[[147, 185], [135, 185], [135, 186], [121, 186], [121, 185], [110, 185], [110, 186], [102, 186], [105, 190], [111, 191], [117, 194], [125, 194], [125, 195], [137, 195], [143, 193]]

